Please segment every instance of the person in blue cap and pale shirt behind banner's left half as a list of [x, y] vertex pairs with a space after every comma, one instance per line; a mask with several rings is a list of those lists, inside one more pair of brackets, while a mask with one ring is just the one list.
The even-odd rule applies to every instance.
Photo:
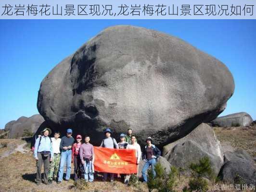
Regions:
[[[106, 147], [106, 148], [116, 148], [118, 149], [119, 146], [117, 144], [117, 142], [115, 141], [115, 138], [111, 137], [111, 130], [110, 128], [106, 128], [105, 131], [105, 138], [102, 140], [101, 143], [101, 147]], [[103, 181], [107, 180], [107, 174], [108, 173], [103, 173]], [[110, 181], [113, 182], [114, 181], [114, 173], [110, 173]]]

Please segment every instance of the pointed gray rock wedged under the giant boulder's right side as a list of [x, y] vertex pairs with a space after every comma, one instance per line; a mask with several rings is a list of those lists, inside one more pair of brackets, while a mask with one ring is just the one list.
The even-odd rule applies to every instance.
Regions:
[[199, 162], [204, 156], [210, 158], [215, 176], [223, 165], [220, 142], [212, 128], [205, 123], [199, 125], [187, 136], [164, 146], [163, 156], [171, 165], [185, 168], [187, 174], [190, 173], [190, 164]]

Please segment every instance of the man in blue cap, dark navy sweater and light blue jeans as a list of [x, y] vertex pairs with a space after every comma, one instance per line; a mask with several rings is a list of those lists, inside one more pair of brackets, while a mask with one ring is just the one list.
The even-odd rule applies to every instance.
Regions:
[[64, 165], [66, 164], [66, 177], [65, 180], [70, 179], [70, 173], [71, 173], [71, 159], [72, 159], [72, 145], [75, 142], [75, 139], [72, 137], [72, 129], [67, 129], [66, 136], [61, 138], [61, 144], [60, 144], [60, 150], [61, 150], [61, 163], [59, 168], [59, 177], [58, 182], [61, 183], [63, 179], [63, 173], [64, 173]]

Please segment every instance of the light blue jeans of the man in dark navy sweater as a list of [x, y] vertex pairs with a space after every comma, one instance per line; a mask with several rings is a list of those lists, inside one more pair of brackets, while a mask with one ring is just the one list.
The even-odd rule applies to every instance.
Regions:
[[67, 167], [67, 172], [66, 172], [66, 178], [65, 179], [66, 180], [70, 179], [71, 158], [72, 158], [72, 150], [62, 150], [58, 181], [62, 181], [65, 163], [66, 163], [66, 167]]

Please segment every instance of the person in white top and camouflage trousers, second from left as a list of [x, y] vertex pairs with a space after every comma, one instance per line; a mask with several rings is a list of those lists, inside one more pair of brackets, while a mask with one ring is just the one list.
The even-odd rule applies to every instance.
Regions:
[[54, 137], [51, 137], [52, 142], [52, 150], [53, 150], [53, 157], [50, 164], [50, 171], [48, 175], [49, 183], [52, 183], [52, 180], [57, 180], [57, 174], [60, 166], [60, 160], [61, 160], [61, 152], [60, 152], [60, 144], [61, 139], [59, 138], [61, 136], [60, 132], [54, 132]]

